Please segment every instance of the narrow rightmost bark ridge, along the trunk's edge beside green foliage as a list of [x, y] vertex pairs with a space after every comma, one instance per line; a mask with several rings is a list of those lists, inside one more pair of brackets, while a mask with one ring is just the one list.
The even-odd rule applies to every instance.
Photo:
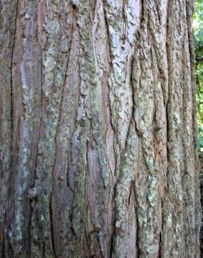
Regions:
[[[184, 16], [187, 15], [187, 6], [184, 8]], [[183, 134], [182, 139], [184, 146], [184, 225], [187, 232], [185, 243], [187, 253], [190, 257], [195, 257], [196, 248], [195, 239], [191, 236], [195, 235], [195, 153], [193, 153], [193, 126], [190, 127], [193, 121], [193, 89], [192, 75], [190, 64], [190, 50], [188, 38], [188, 24], [185, 24], [185, 36], [182, 49], [182, 70], [183, 70]], [[192, 148], [191, 148], [192, 146]], [[191, 183], [193, 182], [193, 183]], [[186, 194], [187, 192], [187, 194]], [[190, 234], [188, 234], [190, 232]], [[193, 243], [193, 248], [189, 248], [190, 243]]]

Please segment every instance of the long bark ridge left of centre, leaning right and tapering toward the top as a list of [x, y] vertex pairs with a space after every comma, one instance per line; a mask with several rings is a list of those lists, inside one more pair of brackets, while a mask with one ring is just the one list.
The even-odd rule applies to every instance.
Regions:
[[[72, 8], [70, 8], [71, 10]], [[71, 13], [70, 13], [71, 15]], [[56, 158], [53, 169], [53, 191], [51, 194], [52, 226], [56, 256], [64, 257], [67, 252], [68, 232], [71, 227], [70, 213], [73, 198], [73, 174], [70, 171], [71, 138], [75, 129], [76, 109], [79, 105], [79, 38], [76, 27], [76, 12], [72, 10], [72, 36], [68, 54], [63, 98], [60, 107], [60, 120], [56, 134]], [[67, 36], [69, 36], [67, 34]], [[67, 183], [68, 182], [68, 183]], [[65, 225], [65, 227], [64, 227]]]

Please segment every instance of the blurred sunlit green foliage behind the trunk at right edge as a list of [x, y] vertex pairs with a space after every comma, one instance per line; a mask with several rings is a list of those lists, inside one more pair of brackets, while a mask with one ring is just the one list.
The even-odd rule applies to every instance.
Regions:
[[197, 78], [198, 151], [203, 151], [203, 1], [195, 1], [193, 20]]

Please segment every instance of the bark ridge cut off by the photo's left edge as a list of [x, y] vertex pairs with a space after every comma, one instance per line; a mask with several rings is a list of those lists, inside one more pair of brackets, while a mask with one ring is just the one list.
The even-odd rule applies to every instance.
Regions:
[[12, 56], [15, 39], [17, 1], [0, 3], [0, 255], [13, 255], [9, 241], [8, 197], [12, 160]]

